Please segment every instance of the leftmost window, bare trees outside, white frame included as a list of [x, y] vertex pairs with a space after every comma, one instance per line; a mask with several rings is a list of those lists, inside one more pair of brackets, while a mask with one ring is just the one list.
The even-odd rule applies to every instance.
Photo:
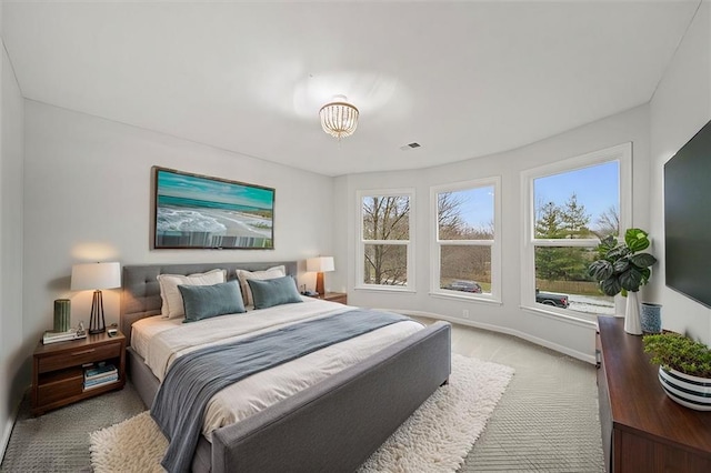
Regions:
[[361, 191], [359, 288], [407, 290], [414, 281], [411, 190]]

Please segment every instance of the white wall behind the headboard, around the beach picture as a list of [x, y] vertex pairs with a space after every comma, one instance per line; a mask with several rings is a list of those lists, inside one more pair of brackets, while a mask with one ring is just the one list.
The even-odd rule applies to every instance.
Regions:
[[[151, 251], [152, 165], [274, 188], [276, 249]], [[331, 193], [320, 174], [26, 101], [28, 353], [52, 326], [54, 299], [71, 299], [72, 325], [88, 325], [91, 291], [69, 291], [72, 264], [300, 260], [306, 270], [306, 258], [331, 251]], [[118, 322], [120, 291], [103, 294], [107, 324]]]

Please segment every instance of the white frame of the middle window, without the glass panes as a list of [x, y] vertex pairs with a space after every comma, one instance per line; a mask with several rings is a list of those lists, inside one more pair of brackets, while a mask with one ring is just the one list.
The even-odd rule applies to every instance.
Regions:
[[[465, 191], [474, 188], [493, 187], [493, 240], [440, 240], [439, 199], [442, 192]], [[452, 182], [430, 188], [430, 295], [445, 299], [459, 299], [501, 304], [501, 177]], [[457, 293], [440, 288], [442, 253], [448, 245], [489, 246], [491, 249], [491, 293]]]

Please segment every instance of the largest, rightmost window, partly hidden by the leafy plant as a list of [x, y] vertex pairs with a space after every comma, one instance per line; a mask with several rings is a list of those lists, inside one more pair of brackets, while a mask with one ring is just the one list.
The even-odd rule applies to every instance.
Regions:
[[631, 143], [522, 174], [525, 194], [524, 306], [594, 320], [614, 314], [614, 298], [587, 274], [601, 236], [631, 222]]

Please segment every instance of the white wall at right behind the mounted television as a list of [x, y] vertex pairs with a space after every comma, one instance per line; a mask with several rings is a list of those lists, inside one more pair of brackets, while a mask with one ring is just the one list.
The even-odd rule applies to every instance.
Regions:
[[[657, 89], [650, 117], [650, 205], [654, 209], [650, 230], [654, 235], [654, 253], [660, 260], [650, 289], [654, 300], [663, 305], [665, 329], [687, 332], [711, 344], [711, 309], [665, 286], [663, 217], [664, 163], [711, 119], [711, 6], [708, 1], [702, 3]], [[700, 217], [709, 218], [708, 214]]]

